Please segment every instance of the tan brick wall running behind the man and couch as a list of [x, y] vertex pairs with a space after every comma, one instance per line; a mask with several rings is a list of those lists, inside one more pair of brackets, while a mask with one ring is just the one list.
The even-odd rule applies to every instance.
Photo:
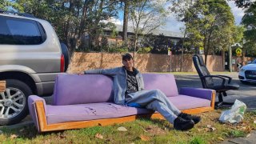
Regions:
[[[184, 54], [182, 71], [196, 71], [192, 56], [192, 54]], [[208, 55], [207, 59], [209, 71], [224, 71], [222, 56]], [[122, 66], [122, 54], [79, 52], [72, 56], [68, 73], [117, 66]], [[170, 72], [170, 56], [167, 54], [136, 54], [135, 67], [141, 72]], [[172, 55], [171, 70], [174, 72], [180, 70], [180, 55]]]

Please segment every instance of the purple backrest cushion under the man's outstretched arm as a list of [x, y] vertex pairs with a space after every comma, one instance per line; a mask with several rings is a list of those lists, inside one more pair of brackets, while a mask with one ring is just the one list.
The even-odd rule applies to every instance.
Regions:
[[112, 78], [101, 74], [58, 74], [53, 105], [113, 102]]

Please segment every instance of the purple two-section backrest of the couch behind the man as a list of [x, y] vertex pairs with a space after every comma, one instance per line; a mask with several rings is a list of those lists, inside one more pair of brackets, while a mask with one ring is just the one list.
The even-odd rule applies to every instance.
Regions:
[[[142, 74], [145, 90], [159, 89], [167, 97], [178, 95], [173, 74]], [[113, 102], [113, 80], [101, 74], [58, 74], [53, 105]]]

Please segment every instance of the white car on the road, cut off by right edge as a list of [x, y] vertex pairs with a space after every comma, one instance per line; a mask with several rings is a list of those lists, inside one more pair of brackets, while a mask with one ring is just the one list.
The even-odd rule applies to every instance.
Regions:
[[246, 66], [242, 66], [239, 71], [238, 78], [242, 83], [256, 82], [256, 59], [249, 63]]

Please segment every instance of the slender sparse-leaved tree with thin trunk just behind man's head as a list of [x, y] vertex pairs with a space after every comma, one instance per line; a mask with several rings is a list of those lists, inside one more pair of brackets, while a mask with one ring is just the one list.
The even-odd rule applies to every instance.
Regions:
[[134, 29], [134, 58], [138, 50], [139, 36], [150, 34], [166, 22], [167, 11], [164, 2], [138, 0], [131, 1], [130, 20]]

